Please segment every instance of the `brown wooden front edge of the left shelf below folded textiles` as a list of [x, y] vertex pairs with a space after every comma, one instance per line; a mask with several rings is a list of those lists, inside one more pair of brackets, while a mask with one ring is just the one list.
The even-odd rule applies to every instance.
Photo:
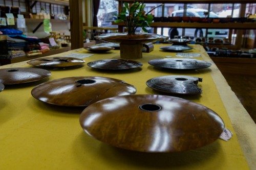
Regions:
[[12, 59], [3, 59], [0, 58], [0, 64], [1, 65], [6, 65], [6, 64], [12, 64], [12, 63], [17, 63], [17, 62], [21, 62], [21, 61], [27, 61], [27, 60], [32, 60], [35, 58], [39, 58], [39, 57], [46, 57], [46, 56], [50, 56], [50, 55], [54, 55], [54, 54], [59, 54], [59, 53], [63, 53], [63, 52], [67, 52], [70, 51], [71, 47], [62, 47], [62, 48], [58, 48], [56, 50], [50, 50], [47, 53], [44, 53], [42, 55], [37, 55], [37, 56], [31, 56], [31, 57], [16, 57], [16, 58], [12, 58]]

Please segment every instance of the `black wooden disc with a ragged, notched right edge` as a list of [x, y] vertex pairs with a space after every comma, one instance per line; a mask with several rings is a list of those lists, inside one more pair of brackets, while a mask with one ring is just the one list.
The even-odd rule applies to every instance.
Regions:
[[146, 85], [154, 90], [172, 94], [200, 94], [197, 86], [202, 79], [190, 76], [161, 76], [150, 79]]

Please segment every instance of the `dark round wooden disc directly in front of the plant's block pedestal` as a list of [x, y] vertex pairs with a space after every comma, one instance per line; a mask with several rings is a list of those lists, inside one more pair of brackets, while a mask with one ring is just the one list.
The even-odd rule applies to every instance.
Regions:
[[110, 59], [97, 60], [87, 63], [88, 66], [104, 70], [125, 70], [141, 67], [143, 64], [133, 60]]

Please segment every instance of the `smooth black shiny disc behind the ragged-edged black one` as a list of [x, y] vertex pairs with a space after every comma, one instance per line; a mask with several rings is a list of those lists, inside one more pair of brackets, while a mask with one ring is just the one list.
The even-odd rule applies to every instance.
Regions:
[[148, 61], [148, 64], [158, 68], [167, 69], [200, 69], [211, 66], [211, 63], [196, 59], [155, 59]]

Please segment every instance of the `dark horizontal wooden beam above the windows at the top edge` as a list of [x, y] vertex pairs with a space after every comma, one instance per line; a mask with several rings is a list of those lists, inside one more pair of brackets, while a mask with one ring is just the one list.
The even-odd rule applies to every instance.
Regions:
[[[121, 0], [116, 0], [116, 1], [119, 1], [121, 2]], [[183, 3], [183, 4], [208, 4], [208, 3], [211, 3], [211, 4], [224, 4], [224, 3], [256, 3], [255, 0], [241, 0], [241, 1], [234, 1], [234, 0], [138, 0], [139, 2], [144, 2], [144, 3]], [[133, 3], [134, 1], [133, 0], [122, 0], [122, 2], [129, 2], [129, 3]]]

